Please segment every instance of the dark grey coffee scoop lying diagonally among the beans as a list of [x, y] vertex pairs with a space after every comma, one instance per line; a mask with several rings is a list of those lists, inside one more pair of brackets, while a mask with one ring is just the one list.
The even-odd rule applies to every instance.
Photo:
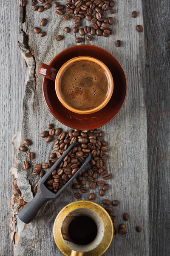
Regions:
[[70, 149], [77, 145], [80, 145], [80, 144], [78, 142], [71, 144], [68, 147], [68, 149], [64, 152], [64, 154], [62, 154], [62, 156], [59, 157], [59, 159], [56, 161], [56, 163], [54, 163], [54, 165], [50, 168], [50, 170], [40, 179], [39, 184], [38, 184], [37, 194], [28, 204], [26, 204], [26, 206], [18, 214], [18, 217], [20, 218], [21, 221], [23, 221], [26, 224], [30, 223], [33, 220], [33, 218], [35, 217], [35, 215], [37, 214], [37, 212], [40, 210], [42, 205], [44, 203], [46, 203], [47, 201], [49, 201], [51, 199], [55, 199], [59, 195], [61, 195], [62, 192], [64, 192], [64, 190], [66, 189], [66, 187], [77, 177], [79, 172], [81, 172], [81, 170], [83, 168], [85, 168], [87, 163], [91, 160], [91, 153], [89, 152], [88, 156], [85, 159], [85, 162], [82, 164], [82, 166], [79, 168], [79, 170], [73, 175], [73, 177], [71, 177], [70, 180], [68, 180], [68, 182], [56, 194], [51, 192], [45, 186], [45, 184], [44, 184], [45, 181], [48, 179], [48, 177], [51, 175], [51, 173], [54, 171], [54, 169], [56, 169], [56, 167], [61, 163], [62, 159], [68, 154]]

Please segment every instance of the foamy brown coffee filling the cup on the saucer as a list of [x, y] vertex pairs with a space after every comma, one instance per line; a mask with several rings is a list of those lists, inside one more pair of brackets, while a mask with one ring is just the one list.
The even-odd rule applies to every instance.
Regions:
[[73, 108], [90, 110], [98, 107], [108, 95], [108, 76], [93, 61], [76, 61], [63, 72], [59, 81], [63, 99]]

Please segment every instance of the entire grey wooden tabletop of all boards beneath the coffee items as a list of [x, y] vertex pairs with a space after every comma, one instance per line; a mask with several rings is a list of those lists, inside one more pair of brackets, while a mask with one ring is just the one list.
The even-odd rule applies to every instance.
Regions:
[[[113, 35], [95, 36], [94, 41], [82, 42], [111, 52], [122, 64], [128, 82], [122, 111], [102, 127], [109, 143], [108, 170], [112, 174], [105, 198], [120, 201], [116, 209], [119, 224], [122, 213], [130, 214], [128, 234], [116, 235], [104, 255], [165, 256], [170, 251], [170, 4], [168, 0], [115, 1], [114, 9]], [[131, 17], [134, 10], [139, 13], [136, 18]], [[62, 49], [75, 45], [75, 35], [72, 32], [66, 35], [63, 31], [65, 26], [73, 27], [73, 22], [62, 21], [54, 8], [34, 12], [31, 0], [27, 1], [26, 10], [19, 3], [12, 5], [2, 0], [0, 17], [0, 255], [60, 256], [52, 228], [59, 210], [75, 200], [71, 187], [64, 197], [45, 204], [30, 224], [21, 223], [17, 207], [23, 200], [17, 184], [28, 202], [33, 197], [31, 186], [37, 183], [37, 178], [32, 176], [32, 169], [23, 171], [21, 163], [26, 154], [18, 154], [18, 148], [25, 137], [31, 138], [31, 151], [36, 152], [33, 163], [45, 162], [52, 145], [42, 140], [41, 132], [50, 122], [68, 130], [46, 108], [37, 67], [41, 62], [48, 64]], [[44, 38], [32, 31], [42, 18], [48, 19]], [[144, 27], [142, 33], [136, 31], [139, 24]], [[64, 34], [64, 40], [56, 42], [58, 34]], [[122, 41], [119, 48], [115, 45], [118, 39]], [[17, 129], [11, 168], [11, 138]], [[10, 168], [15, 178], [11, 211], [8, 206], [12, 195]], [[95, 201], [102, 203], [97, 192]], [[142, 227], [141, 233], [136, 232], [136, 225]]]

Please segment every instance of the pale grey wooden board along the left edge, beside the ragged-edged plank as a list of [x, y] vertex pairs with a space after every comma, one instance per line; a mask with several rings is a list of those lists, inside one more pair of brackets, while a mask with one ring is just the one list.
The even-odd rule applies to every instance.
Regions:
[[9, 233], [12, 194], [9, 170], [12, 165], [11, 139], [21, 123], [22, 100], [25, 89], [25, 63], [18, 41], [19, 5], [0, 1], [0, 255], [13, 255]]

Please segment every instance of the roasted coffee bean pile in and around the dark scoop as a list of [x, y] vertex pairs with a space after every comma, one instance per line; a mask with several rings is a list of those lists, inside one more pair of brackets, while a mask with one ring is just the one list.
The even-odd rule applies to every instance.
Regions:
[[[69, 153], [65, 156], [57, 169], [55, 169], [52, 175], [48, 178], [46, 186], [48, 189], [57, 193], [65, 183], [70, 180], [71, 177], [78, 171], [82, 163], [85, 161], [85, 157], [91, 152], [92, 158], [90, 161], [91, 169], [85, 172], [80, 172], [77, 177], [77, 182], [72, 185], [73, 189], [80, 190], [81, 193], [86, 193], [88, 189], [85, 187], [86, 181], [89, 182], [89, 188], [94, 189], [99, 186], [99, 194], [101, 196], [105, 195], [105, 191], [108, 189], [108, 184], [103, 180], [96, 182], [99, 175], [104, 180], [111, 178], [111, 175], [106, 172], [108, 155], [108, 143], [103, 140], [104, 132], [98, 129], [96, 130], [69, 130], [68, 133], [62, 131], [61, 128], [54, 129], [53, 125], [48, 125], [49, 131], [43, 131], [41, 137], [45, 138], [47, 143], [53, 140], [54, 136], [57, 138], [54, 140], [53, 149], [54, 152], [49, 155], [48, 165], [42, 164], [42, 166], [35, 166], [34, 175], [40, 174], [40, 170], [45, 166], [45, 168], [51, 167], [59, 157], [65, 152], [65, 150], [74, 142], [79, 142], [80, 145], [73, 147]], [[41, 176], [43, 173], [41, 174]], [[93, 200], [94, 193], [91, 195], [91, 200]], [[75, 198], [80, 198], [79, 193], [75, 193]]]

